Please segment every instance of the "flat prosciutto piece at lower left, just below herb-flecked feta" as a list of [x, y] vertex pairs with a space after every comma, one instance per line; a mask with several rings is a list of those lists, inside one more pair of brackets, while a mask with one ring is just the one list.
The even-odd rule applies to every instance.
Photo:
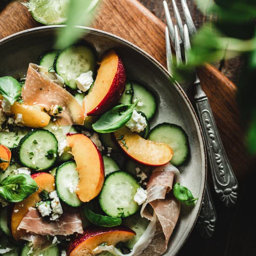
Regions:
[[20, 222], [19, 229], [43, 236], [68, 236], [75, 232], [83, 233], [81, 216], [77, 209], [66, 209], [59, 221], [49, 222], [41, 217], [37, 209], [30, 207]]

